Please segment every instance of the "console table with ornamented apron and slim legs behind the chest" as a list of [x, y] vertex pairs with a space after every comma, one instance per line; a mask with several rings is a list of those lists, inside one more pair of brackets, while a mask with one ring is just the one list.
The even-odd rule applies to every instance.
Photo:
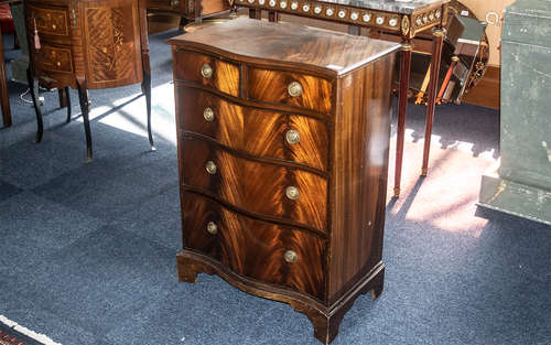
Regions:
[[433, 48], [429, 82], [429, 101], [424, 133], [424, 152], [421, 174], [429, 171], [432, 122], [436, 103], [439, 68], [442, 53], [444, 26], [447, 20], [450, 0], [237, 0], [238, 7], [249, 8], [249, 17], [261, 18], [261, 11], [269, 11], [270, 21], [278, 21], [278, 13], [307, 17], [349, 25], [349, 33], [359, 34], [359, 28], [392, 33], [402, 37], [400, 66], [400, 89], [398, 101], [398, 138], [395, 172], [395, 196], [400, 195], [400, 180], [406, 132], [406, 111], [411, 69], [412, 40], [418, 33], [432, 29]]

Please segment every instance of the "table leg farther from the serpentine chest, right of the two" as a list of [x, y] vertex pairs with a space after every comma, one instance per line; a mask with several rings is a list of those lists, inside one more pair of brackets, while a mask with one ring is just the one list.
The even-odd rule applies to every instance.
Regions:
[[426, 127], [424, 130], [424, 151], [423, 166], [421, 175], [429, 173], [429, 153], [431, 150], [432, 122], [434, 120], [434, 106], [436, 104], [436, 90], [439, 87], [440, 61], [442, 57], [442, 41], [444, 40], [445, 29], [435, 28], [432, 31], [432, 62], [431, 62], [431, 82], [429, 86], [429, 104], [426, 105]]

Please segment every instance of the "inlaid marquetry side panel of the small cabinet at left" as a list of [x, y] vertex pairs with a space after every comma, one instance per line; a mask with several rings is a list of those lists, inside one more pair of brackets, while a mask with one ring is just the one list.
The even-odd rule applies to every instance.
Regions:
[[141, 82], [137, 4], [85, 9], [88, 85], [115, 87]]

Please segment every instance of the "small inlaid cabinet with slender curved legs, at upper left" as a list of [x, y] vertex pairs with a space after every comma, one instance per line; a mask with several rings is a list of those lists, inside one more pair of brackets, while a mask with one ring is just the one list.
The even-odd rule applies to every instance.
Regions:
[[[68, 87], [78, 89], [88, 160], [91, 160], [88, 89], [141, 83], [153, 147], [148, 43], [138, 0], [26, 0], [24, 6], [31, 55], [29, 85], [37, 78], [47, 88], [65, 88], [69, 100], [67, 122], [71, 120]], [[42, 114], [33, 87], [31, 95], [39, 125], [36, 142], [40, 142]]]

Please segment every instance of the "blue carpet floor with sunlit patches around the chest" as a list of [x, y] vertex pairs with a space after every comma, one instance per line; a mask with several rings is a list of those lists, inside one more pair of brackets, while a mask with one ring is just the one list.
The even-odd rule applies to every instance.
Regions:
[[[56, 93], [41, 94], [45, 131], [34, 144], [33, 109], [19, 99], [25, 87], [10, 82], [14, 125], [0, 129], [0, 315], [64, 345], [318, 344], [287, 304], [218, 277], [177, 282], [163, 44], [174, 34], [150, 36], [155, 152], [139, 85], [90, 91], [88, 164], [76, 93], [68, 125]], [[420, 180], [424, 111], [409, 108], [404, 191], [388, 201], [385, 291], [356, 301], [334, 344], [551, 344], [551, 227], [474, 206], [480, 174], [499, 153], [499, 114], [439, 107], [431, 173]]]

